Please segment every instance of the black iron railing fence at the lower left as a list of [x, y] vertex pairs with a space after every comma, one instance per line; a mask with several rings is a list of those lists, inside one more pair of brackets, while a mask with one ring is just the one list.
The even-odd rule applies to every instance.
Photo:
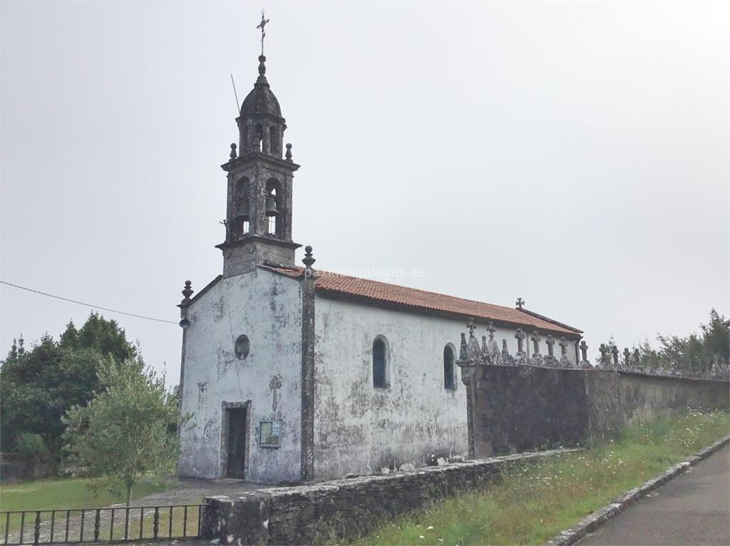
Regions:
[[2, 545], [201, 538], [206, 504], [0, 512]]

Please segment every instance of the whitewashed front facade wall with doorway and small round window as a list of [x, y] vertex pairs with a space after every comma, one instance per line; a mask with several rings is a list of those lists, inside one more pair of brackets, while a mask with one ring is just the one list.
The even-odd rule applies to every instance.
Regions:
[[[220, 477], [223, 403], [250, 401], [246, 478], [298, 480], [301, 433], [301, 288], [258, 269], [220, 280], [188, 309], [183, 412], [193, 419], [181, 433], [179, 472]], [[234, 344], [250, 339], [239, 359]], [[278, 378], [278, 382], [277, 382]], [[277, 385], [280, 383], [280, 387]], [[274, 400], [275, 396], [275, 400]], [[280, 447], [260, 447], [261, 420], [281, 423]]]

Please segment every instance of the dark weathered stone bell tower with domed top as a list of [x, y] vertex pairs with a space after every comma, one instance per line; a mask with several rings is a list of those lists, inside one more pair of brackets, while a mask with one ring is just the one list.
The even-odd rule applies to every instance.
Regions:
[[236, 123], [238, 151], [221, 165], [228, 173], [223, 277], [253, 271], [259, 264], [294, 265], [291, 197], [294, 172], [291, 144], [283, 157], [285, 119], [266, 81], [266, 57], [258, 58], [258, 79], [241, 106]]

